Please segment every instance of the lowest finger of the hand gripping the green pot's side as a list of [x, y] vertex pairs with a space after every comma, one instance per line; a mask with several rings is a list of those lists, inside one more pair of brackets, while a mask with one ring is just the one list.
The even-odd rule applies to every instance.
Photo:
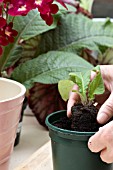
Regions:
[[113, 162], [113, 149], [112, 148], [105, 148], [100, 153], [100, 158], [103, 162], [112, 163]]

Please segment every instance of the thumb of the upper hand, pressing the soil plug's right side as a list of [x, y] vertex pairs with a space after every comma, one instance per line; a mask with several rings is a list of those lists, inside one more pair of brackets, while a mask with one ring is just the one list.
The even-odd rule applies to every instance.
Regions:
[[97, 121], [100, 124], [106, 123], [113, 116], [113, 92], [106, 100], [106, 102], [101, 106], [98, 115]]

